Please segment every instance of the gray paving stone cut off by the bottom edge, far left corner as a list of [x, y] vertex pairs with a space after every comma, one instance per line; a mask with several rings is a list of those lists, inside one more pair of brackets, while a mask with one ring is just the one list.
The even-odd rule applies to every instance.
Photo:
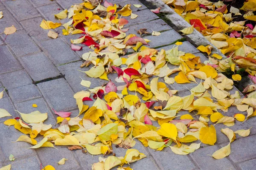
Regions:
[[[15, 156], [15, 154], [13, 155]], [[40, 161], [37, 156], [18, 160], [15, 159], [15, 161], [12, 161], [11, 164], [12, 170], [40, 170]]]

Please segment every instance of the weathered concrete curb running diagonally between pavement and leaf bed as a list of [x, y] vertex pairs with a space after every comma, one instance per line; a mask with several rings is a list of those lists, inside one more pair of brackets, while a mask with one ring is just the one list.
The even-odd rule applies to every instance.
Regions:
[[[176, 31], [182, 30], [184, 28], [190, 27], [191, 25], [186, 22], [182, 17], [180, 17], [179, 14], [177, 14], [172, 8], [167, 6], [165, 3], [163, 3], [161, 0], [140, 0], [141, 3], [144, 3], [145, 6], [156, 6], [160, 7], [160, 12], [165, 14], [164, 17], [169, 19], [172, 22], [172, 28], [174, 28]], [[216, 48], [211, 42], [209, 42], [200, 32], [198, 32], [195, 28], [192, 34], [186, 34], [182, 35], [183, 37], [186, 37], [192, 41], [192, 44], [195, 44], [196, 46], [200, 45], [212, 45], [212, 54], [216, 53], [223, 57], [223, 59], [227, 58], [224, 54], [221, 53], [221, 51]]]

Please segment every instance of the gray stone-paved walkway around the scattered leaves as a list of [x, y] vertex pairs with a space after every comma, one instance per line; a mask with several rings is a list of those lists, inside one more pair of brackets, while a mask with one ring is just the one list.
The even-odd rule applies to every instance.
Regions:
[[[64, 36], [62, 35], [63, 27], [56, 28], [59, 34], [56, 40], [47, 37], [47, 30], [39, 26], [42, 19], [58, 22], [53, 14], [59, 13], [65, 8], [70, 8], [72, 4], [82, 3], [81, 0], [0, 0], [0, 10], [3, 11], [4, 17], [0, 20], [0, 91], [6, 88], [3, 99], [0, 99], [0, 108], [6, 109], [13, 118], [20, 116], [16, 111], [21, 113], [30, 113], [40, 111], [48, 113], [48, 119], [45, 124], [56, 126], [56, 117], [52, 111], [71, 111], [71, 117], [79, 113], [73, 94], [86, 90], [87, 88], [80, 85], [81, 78], [92, 82], [91, 87], [100, 86], [108, 81], [102, 79], [93, 79], [81, 71], [87, 71], [88, 68], [80, 68], [82, 63], [81, 55], [85, 52], [92, 51], [87, 46], [83, 46], [81, 51], [72, 51], [70, 39], [76, 39], [80, 35]], [[160, 31], [160, 36], [142, 35], [143, 38], [151, 40], [148, 44], [150, 48], [161, 48], [169, 50], [175, 45], [171, 45], [178, 39], [183, 38], [179, 33], [168, 26], [163, 20], [152, 13], [138, 0], [108, 0], [111, 3], [118, 3], [121, 6], [131, 3], [131, 9], [134, 14], [138, 14], [136, 19], [128, 19], [129, 28], [127, 34], [137, 34], [140, 28], [147, 28], [151, 33], [152, 30]], [[142, 4], [141, 8], [136, 8], [133, 4]], [[58, 10], [60, 8], [61, 10]], [[61, 20], [61, 23], [67, 22], [67, 19]], [[15, 34], [6, 37], [3, 30], [6, 27], [14, 25], [17, 28]], [[151, 30], [152, 29], [152, 30]], [[3, 40], [6, 40], [3, 42]], [[164, 41], [163, 41], [164, 40]], [[185, 41], [179, 46], [180, 51], [192, 53], [201, 57], [201, 61], [207, 60], [190, 42]], [[128, 52], [134, 52], [129, 51]], [[127, 56], [125, 56], [127, 57]], [[81, 70], [81, 71], [79, 71]], [[62, 76], [63, 75], [63, 76]], [[175, 77], [172, 74], [170, 77]], [[60, 77], [58, 77], [60, 76]], [[81, 78], [79, 78], [81, 77]], [[108, 74], [108, 78], [115, 82], [116, 73]], [[150, 80], [153, 77], [150, 77]], [[18, 81], [17, 81], [18, 80]], [[159, 78], [164, 82], [163, 78]], [[199, 83], [201, 80], [197, 79]], [[34, 84], [33, 84], [34, 83]], [[116, 82], [115, 82], [116, 83]], [[116, 85], [124, 83], [116, 83]], [[188, 90], [195, 87], [196, 83], [185, 83], [183, 85], [174, 83], [168, 85], [170, 89], [178, 90], [178, 96], [187, 96], [191, 92]], [[188, 88], [188, 89], [187, 89]], [[234, 88], [230, 93], [236, 91]], [[210, 92], [210, 91], [209, 91]], [[92, 96], [92, 95], [91, 95]], [[139, 94], [139, 96], [141, 96]], [[32, 104], [37, 104], [33, 108]], [[93, 102], [86, 102], [87, 105], [93, 105]], [[223, 113], [222, 111], [220, 111]], [[227, 116], [233, 116], [238, 113], [236, 107], [230, 107]], [[180, 115], [187, 114], [186, 111], [180, 111]], [[195, 119], [198, 115], [194, 116]], [[246, 115], [246, 112], [243, 112]], [[22, 133], [13, 127], [3, 125], [3, 121], [8, 117], [0, 120], [0, 167], [9, 163], [14, 170], [37, 170], [40, 169], [40, 163], [43, 166], [53, 165], [56, 170], [90, 170], [91, 164], [98, 162], [99, 156], [91, 156], [89, 153], [82, 153], [81, 150], [70, 151], [66, 147], [39, 148], [37, 150], [27, 149], [31, 147], [25, 142], [15, 141]], [[156, 122], [154, 122], [156, 123]], [[236, 122], [236, 125], [229, 127], [232, 130], [248, 129], [254, 127], [256, 117], [248, 119], [246, 122]], [[210, 122], [212, 124], [212, 122]], [[157, 125], [156, 125], [157, 126]], [[227, 126], [216, 125], [217, 145], [209, 146], [201, 144], [201, 148], [188, 156], [180, 156], [173, 153], [170, 148], [164, 148], [162, 151], [155, 151], [149, 147], [144, 147], [141, 142], [137, 141], [135, 149], [145, 153], [147, 158], [138, 162], [131, 163], [130, 166], [137, 169], [148, 170], [197, 170], [197, 169], [252, 169], [256, 164], [256, 129], [252, 128], [250, 136], [241, 137], [236, 135], [237, 140], [231, 143], [231, 154], [225, 159], [216, 160], [211, 155], [219, 148], [225, 146], [228, 142], [227, 136], [221, 133], [221, 128]], [[2, 137], [3, 136], [3, 137]], [[38, 141], [40, 139], [37, 139]], [[113, 153], [116, 156], [124, 156], [126, 149], [116, 148], [113, 145]], [[9, 161], [9, 155], [15, 156], [15, 161]], [[102, 156], [102, 155], [100, 155]], [[64, 165], [58, 165], [57, 162], [62, 158], [69, 159]]]

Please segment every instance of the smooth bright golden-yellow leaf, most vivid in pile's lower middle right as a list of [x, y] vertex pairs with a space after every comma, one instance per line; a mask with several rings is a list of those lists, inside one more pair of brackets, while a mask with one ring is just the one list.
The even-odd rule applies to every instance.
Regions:
[[170, 123], [163, 123], [159, 130], [157, 130], [157, 133], [165, 136], [167, 138], [171, 138], [173, 140], [176, 140], [177, 137], [177, 128], [175, 125]]

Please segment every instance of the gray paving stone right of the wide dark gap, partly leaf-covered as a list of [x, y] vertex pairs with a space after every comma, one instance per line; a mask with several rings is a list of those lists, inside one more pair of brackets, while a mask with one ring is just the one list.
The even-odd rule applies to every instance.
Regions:
[[[90, 69], [90, 67], [80, 68], [80, 65], [82, 63], [83, 62], [81, 62], [81, 61], [72, 62], [72, 63], [61, 65], [58, 67], [58, 69], [61, 71], [61, 73], [65, 75], [67, 82], [70, 84], [70, 86], [74, 89], [75, 92], [87, 89], [86, 87], [84, 87], [80, 84], [81, 78], [91, 82], [90, 88], [95, 88], [95, 87], [98, 87], [98, 86], [108, 82], [107, 80], [103, 80], [103, 79], [99, 79], [99, 78], [95, 79], [95, 78], [89, 77], [85, 73], [81, 72], [81, 71], [88, 71]], [[79, 71], [79, 70], [81, 70], [81, 71]]]

